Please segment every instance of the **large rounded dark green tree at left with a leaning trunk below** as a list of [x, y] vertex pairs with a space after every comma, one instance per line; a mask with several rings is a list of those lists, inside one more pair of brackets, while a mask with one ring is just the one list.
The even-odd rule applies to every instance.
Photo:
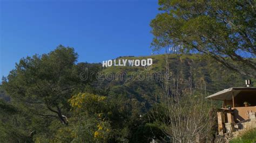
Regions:
[[59, 45], [48, 54], [23, 58], [3, 87], [19, 108], [68, 124], [64, 112], [69, 110], [67, 101], [79, 80], [74, 74], [77, 56], [73, 48]]

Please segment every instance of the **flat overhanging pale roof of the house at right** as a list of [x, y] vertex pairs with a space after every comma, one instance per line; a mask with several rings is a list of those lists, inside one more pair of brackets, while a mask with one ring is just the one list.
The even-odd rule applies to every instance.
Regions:
[[222, 101], [232, 100], [233, 93], [234, 93], [234, 97], [235, 97], [242, 91], [254, 92], [255, 96], [256, 96], [256, 87], [233, 87], [233, 88], [228, 88], [228, 89], [219, 91], [213, 95], [207, 96], [206, 98], [222, 100]]

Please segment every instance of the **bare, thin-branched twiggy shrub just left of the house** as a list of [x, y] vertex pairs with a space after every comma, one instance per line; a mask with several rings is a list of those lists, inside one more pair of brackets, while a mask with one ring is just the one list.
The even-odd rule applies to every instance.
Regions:
[[[166, 72], [163, 80], [163, 94], [159, 98], [159, 103], [151, 109], [149, 118], [154, 124], [158, 124], [161, 130], [166, 134], [166, 138], [159, 139], [168, 142], [206, 142], [207, 139], [213, 139], [212, 129], [214, 128], [214, 115], [211, 106], [207, 104], [205, 95], [201, 89], [203, 87], [192, 84], [193, 73], [191, 64], [188, 85], [190, 91], [183, 90], [180, 86], [182, 74], [172, 74], [169, 67], [169, 56], [166, 53]], [[181, 73], [184, 71], [181, 69]], [[181, 76], [180, 76], [181, 75]], [[181, 77], [181, 78], [180, 78]], [[204, 80], [199, 80], [205, 83]], [[186, 87], [185, 87], [186, 88]], [[206, 94], [206, 88], [205, 94]]]

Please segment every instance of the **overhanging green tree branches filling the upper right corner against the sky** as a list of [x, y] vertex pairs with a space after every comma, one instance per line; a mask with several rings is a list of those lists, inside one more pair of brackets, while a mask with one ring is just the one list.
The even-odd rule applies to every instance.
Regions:
[[159, 5], [161, 13], [150, 24], [155, 49], [203, 53], [256, 78], [255, 1], [159, 0]]

